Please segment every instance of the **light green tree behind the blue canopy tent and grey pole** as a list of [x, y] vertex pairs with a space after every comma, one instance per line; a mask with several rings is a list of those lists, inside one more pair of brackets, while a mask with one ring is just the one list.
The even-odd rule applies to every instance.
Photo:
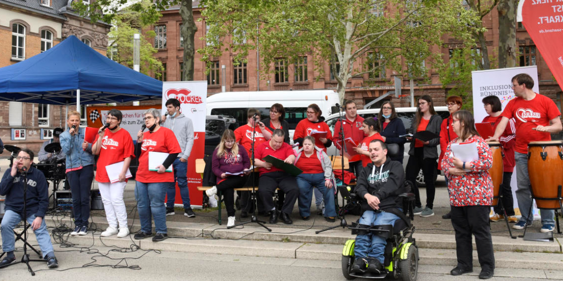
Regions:
[[[146, 10], [152, 6], [150, 0], [143, 0], [140, 3]], [[140, 30], [148, 28], [154, 24], [160, 17], [160, 14], [155, 15], [150, 19], [143, 22], [141, 12], [132, 10], [131, 8], [124, 8], [117, 13], [111, 21], [111, 30], [109, 36], [108, 57], [112, 60], [119, 62], [124, 66], [133, 68], [133, 34], [140, 33]], [[146, 36], [154, 38], [155, 33], [153, 30], [146, 32]], [[140, 42], [140, 72], [149, 75], [150, 72], [160, 75], [159, 72], [163, 70], [162, 62], [154, 58], [153, 54], [158, 50], [153, 47], [145, 37], [141, 36]]]

